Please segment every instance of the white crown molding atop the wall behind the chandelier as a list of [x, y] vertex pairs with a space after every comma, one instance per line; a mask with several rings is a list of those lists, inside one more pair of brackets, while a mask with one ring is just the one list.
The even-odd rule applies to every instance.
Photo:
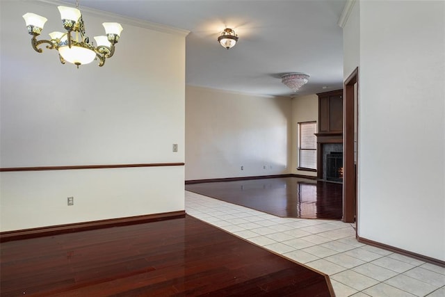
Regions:
[[[65, 5], [65, 6], [73, 6], [72, 3], [65, 2], [65, 1], [58, 1], [58, 0], [38, 0], [38, 1], [31, 1], [31, 0], [24, 0], [27, 2], [33, 2], [33, 3], [40, 3], [47, 6], [59, 6], [59, 5]], [[170, 33], [180, 36], [186, 36], [190, 31], [184, 30], [184, 29], [178, 29], [172, 26], [167, 26], [163, 24], [157, 24], [153, 22], [144, 21], [142, 19], [135, 19], [132, 17], [125, 17], [124, 15], [118, 15], [115, 13], [108, 13], [103, 10], [97, 10], [94, 8], [88, 8], [86, 6], [79, 6], [82, 13], [89, 13], [92, 15], [97, 15], [99, 17], [106, 17], [107, 19], [113, 19], [113, 22], [120, 22], [122, 24], [129, 24], [132, 26], [138, 26], [140, 28], [150, 29], [154, 31], [159, 31], [162, 33]]]

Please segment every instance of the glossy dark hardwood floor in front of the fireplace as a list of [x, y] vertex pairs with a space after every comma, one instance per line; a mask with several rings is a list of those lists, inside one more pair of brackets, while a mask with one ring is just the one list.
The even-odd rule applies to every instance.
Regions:
[[299, 177], [186, 184], [186, 190], [288, 218], [340, 220], [342, 184]]

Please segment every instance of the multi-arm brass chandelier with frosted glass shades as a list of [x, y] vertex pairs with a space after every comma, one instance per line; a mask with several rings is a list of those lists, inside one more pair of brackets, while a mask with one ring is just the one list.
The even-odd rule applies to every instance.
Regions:
[[26, 13], [23, 18], [28, 28], [28, 33], [33, 35], [31, 46], [35, 51], [41, 53], [42, 49], [38, 46], [47, 43], [47, 49], [56, 49], [58, 57], [62, 64], [72, 63], [79, 68], [79, 65], [91, 63], [96, 58], [99, 59], [99, 66], [103, 66], [106, 58], [111, 58], [114, 54], [115, 44], [118, 43], [122, 26], [118, 23], [103, 23], [105, 35], [95, 36], [95, 47], [85, 35], [85, 26], [83, 24], [82, 14], [79, 10], [79, 3], [76, 1], [76, 8], [67, 6], [58, 6], [63, 28], [66, 32], [49, 33], [51, 40], [37, 40], [37, 36], [43, 30], [46, 17], [36, 15], [35, 13]]

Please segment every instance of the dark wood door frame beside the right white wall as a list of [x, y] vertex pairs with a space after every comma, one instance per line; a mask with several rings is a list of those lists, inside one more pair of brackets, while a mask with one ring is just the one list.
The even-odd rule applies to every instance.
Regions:
[[354, 85], [359, 87], [359, 68], [343, 83], [343, 222], [354, 223], [357, 196], [354, 164]]

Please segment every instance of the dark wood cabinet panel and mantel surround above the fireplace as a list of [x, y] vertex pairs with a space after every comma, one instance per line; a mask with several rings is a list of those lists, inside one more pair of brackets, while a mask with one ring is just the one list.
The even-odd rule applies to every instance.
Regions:
[[343, 90], [333, 90], [317, 95], [317, 178], [323, 179], [323, 145], [343, 143]]

